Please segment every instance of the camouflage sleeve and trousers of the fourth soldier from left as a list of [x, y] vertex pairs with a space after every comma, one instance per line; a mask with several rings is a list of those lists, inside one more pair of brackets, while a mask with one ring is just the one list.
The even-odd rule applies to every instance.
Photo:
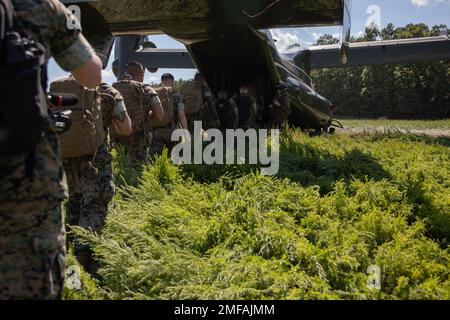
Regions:
[[174, 142], [172, 142], [172, 132], [177, 129], [178, 126], [178, 113], [184, 111], [184, 99], [183, 95], [179, 92], [173, 93], [174, 103], [174, 119], [172, 123], [164, 128], [152, 129], [152, 141], [150, 144], [150, 155], [154, 157], [157, 154], [162, 154], [164, 148], [172, 149]]

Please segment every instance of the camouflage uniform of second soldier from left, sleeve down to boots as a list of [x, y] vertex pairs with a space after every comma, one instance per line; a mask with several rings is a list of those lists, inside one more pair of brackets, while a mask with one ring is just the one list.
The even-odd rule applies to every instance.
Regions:
[[[119, 117], [122, 112], [126, 112], [126, 108], [119, 91], [113, 87], [102, 83], [97, 92], [101, 95], [103, 125], [107, 139], [94, 155], [65, 159], [64, 170], [69, 186], [67, 223], [100, 232], [108, 213], [108, 204], [115, 191], [109, 127], [112, 125], [113, 117]], [[81, 252], [87, 257], [85, 259], [90, 260], [89, 247], [75, 242], [75, 255], [79, 257]], [[80, 259], [80, 262], [87, 264], [89, 261]], [[87, 268], [87, 265], [85, 267]]]

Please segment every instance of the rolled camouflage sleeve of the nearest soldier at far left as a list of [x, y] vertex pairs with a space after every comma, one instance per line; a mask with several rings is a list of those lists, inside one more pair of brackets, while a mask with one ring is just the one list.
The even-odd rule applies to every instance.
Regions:
[[53, 27], [50, 35], [51, 53], [62, 69], [74, 70], [89, 61], [94, 50], [79, 31], [68, 28], [68, 19], [76, 18], [62, 3], [48, 0], [48, 5], [49, 20]]

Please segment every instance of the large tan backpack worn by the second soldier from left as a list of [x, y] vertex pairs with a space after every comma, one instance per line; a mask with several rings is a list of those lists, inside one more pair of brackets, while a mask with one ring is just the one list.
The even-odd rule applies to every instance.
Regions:
[[78, 103], [64, 107], [71, 110], [72, 126], [60, 135], [61, 153], [64, 159], [93, 155], [105, 143], [100, 96], [95, 90], [83, 87], [73, 77], [67, 77], [50, 85], [52, 94], [70, 93], [78, 96]]

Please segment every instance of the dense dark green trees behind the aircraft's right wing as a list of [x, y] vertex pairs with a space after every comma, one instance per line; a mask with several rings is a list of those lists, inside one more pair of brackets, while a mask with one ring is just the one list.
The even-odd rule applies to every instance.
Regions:
[[[376, 26], [352, 41], [392, 40], [437, 36], [445, 25], [429, 28], [409, 24], [395, 28]], [[318, 44], [338, 42], [324, 35]], [[338, 107], [337, 116], [352, 118], [450, 118], [450, 62], [314, 70], [316, 89]]]

